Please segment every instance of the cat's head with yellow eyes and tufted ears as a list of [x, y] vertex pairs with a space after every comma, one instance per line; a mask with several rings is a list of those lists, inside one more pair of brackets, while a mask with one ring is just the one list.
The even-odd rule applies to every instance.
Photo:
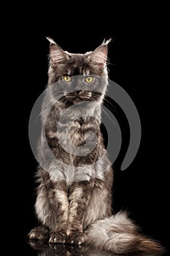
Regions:
[[68, 53], [53, 39], [50, 41], [48, 86], [58, 106], [67, 108], [79, 102], [102, 102], [107, 89], [107, 45], [103, 42], [93, 51]]

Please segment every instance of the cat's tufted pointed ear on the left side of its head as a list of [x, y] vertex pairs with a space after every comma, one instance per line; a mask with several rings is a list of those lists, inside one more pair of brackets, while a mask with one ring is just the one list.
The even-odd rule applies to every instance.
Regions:
[[50, 64], [52, 67], [57, 67], [58, 64], [63, 63], [68, 57], [68, 54], [62, 50], [53, 39], [47, 37], [50, 41]]

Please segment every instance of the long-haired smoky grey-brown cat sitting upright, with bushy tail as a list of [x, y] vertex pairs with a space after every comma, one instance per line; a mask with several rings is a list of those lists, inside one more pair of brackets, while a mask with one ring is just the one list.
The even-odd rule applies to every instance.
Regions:
[[[41, 226], [28, 237], [51, 244], [87, 244], [117, 254], [162, 253], [161, 244], [139, 233], [125, 211], [112, 214], [114, 173], [101, 134], [110, 39], [83, 54], [69, 53], [47, 39], [50, 93], [42, 104], [45, 128], [38, 146], [42, 165], [36, 173], [35, 203]], [[82, 154], [74, 154], [77, 148]]]

